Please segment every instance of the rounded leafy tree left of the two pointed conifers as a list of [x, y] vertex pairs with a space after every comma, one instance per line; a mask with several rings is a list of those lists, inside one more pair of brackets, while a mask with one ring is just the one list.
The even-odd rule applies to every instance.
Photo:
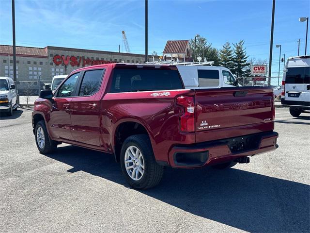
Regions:
[[[190, 39], [189, 40], [189, 47], [191, 50], [192, 56], [194, 56], [194, 47], [195, 47], [195, 39]], [[204, 53], [203, 53], [203, 47], [204, 47]], [[197, 57], [200, 56], [202, 57], [203, 61], [203, 54], [204, 57], [207, 59], [207, 61], [211, 62], [214, 61], [214, 66], [219, 65], [219, 55], [218, 55], [218, 50], [216, 48], [212, 47], [212, 44], [207, 43], [207, 39], [200, 36], [196, 38], [196, 61]]]

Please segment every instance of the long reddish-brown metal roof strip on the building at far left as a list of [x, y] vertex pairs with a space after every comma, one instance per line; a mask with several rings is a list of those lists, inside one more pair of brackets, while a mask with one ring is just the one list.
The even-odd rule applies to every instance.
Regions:
[[[13, 46], [0, 45], [0, 54], [13, 55]], [[16, 46], [16, 55], [47, 57], [47, 49]]]

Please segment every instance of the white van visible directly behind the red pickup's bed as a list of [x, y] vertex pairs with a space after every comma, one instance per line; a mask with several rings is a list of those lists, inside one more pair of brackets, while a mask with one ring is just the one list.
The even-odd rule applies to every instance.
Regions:
[[207, 89], [239, 86], [232, 72], [225, 67], [177, 66], [188, 89]]

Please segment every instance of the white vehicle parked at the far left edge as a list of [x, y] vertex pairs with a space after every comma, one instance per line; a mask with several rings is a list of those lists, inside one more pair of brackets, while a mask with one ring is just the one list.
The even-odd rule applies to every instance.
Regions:
[[17, 110], [16, 89], [13, 79], [0, 77], [0, 112], [13, 115], [13, 110]]

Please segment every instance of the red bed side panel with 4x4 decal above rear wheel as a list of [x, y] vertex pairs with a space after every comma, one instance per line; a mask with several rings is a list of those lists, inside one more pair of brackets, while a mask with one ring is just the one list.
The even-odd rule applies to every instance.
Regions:
[[[182, 107], [175, 105], [175, 96], [189, 92], [164, 90], [106, 94], [101, 101], [103, 141], [114, 150], [118, 126], [126, 121], [137, 122], [147, 130], [156, 160], [168, 161], [168, 150], [173, 144], [195, 142], [195, 133], [179, 132]], [[156, 96], [154, 93], [169, 95]]]

